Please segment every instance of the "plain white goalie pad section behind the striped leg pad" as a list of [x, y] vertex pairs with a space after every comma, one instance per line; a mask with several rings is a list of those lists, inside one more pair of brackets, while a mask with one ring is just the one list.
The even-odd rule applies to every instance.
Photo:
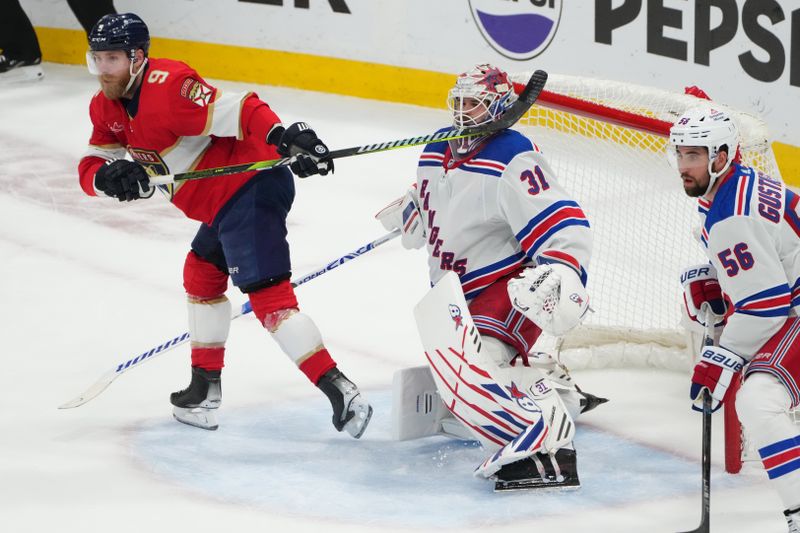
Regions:
[[401, 368], [392, 378], [392, 438], [411, 440], [433, 435], [474, 437], [445, 406], [427, 366]]

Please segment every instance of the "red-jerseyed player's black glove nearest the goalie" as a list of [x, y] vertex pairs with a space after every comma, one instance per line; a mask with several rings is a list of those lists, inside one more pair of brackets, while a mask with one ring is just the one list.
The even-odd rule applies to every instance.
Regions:
[[330, 150], [305, 122], [295, 122], [288, 128], [274, 126], [267, 135], [267, 142], [274, 144], [283, 157], [295, 158], [289, 167], [301, 178], [333, 173]]

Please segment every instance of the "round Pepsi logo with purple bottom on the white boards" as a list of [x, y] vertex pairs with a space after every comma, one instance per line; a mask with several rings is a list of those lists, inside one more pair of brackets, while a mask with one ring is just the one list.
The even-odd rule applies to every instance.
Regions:
[[544, 52], [561, 20], [562, 0], [470, 0], [469, 4], [486, 42], [517, 61]]

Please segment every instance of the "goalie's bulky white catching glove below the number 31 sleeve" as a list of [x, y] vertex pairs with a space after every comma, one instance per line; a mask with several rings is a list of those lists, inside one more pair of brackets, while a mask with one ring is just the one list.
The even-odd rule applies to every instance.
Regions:
[[508, 281], [514, 308], [548, 335], [560, 336], [581, 323], [589, 295], [578, 274], [559, 263], [526, 268]]

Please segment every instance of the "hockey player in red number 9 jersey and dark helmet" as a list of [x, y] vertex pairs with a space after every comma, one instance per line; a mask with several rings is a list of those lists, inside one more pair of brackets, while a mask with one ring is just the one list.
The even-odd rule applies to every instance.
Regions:
[[[132, 13], [103, 17], [89, 36], [87, 62], [102, 90], [90, 104], [93, 130], [78, 167], [88, 195], [139, 200], [154, 193], [151, 175], [280, 157], [294, 157], [291, 169], [300, 177], [333, 171], [328, 148], [308, 125], [283, 126], [255, 94], [223, 92], [184, 63], [150, 58], [149, 44], [147, 26]], [[189, 386], [170, 397], [175, 418], [217, 428], [230, 277], [281, 349], [329, 398], [336, 429], [359, 438], [372, 408], [299, 311], [289, 281], [291, 172], [282, 167], [159, 188], [201, 223], [184, 265], [192, 372]]]

